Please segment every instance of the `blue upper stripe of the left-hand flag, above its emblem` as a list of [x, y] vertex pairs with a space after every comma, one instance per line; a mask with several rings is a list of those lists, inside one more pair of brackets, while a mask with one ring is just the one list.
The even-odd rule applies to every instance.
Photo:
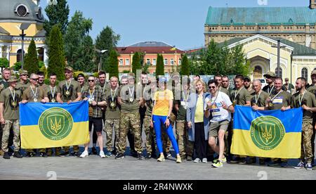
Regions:
[[20, 125], [37, 125], [39, 117], [48, 108], [64, 108], [72, 118], [74, 122], [86, 122], [88, 121], [88, 101], [81, 101], [77, 103], [26, 103], [20, 104]]

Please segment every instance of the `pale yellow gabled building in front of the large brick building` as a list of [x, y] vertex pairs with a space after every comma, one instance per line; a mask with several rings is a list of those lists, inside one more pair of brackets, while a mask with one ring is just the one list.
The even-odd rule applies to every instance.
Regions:
[[[251, 79], [262, 79], [266, 72], [277, 74], [277, 46], [278, 38], [265, 37], [261, 34], [249, 38], [235, 38], [227, 41], [228, 48], [243, 45], [246, 58], [250, 60], [250, 67], [254, 70]], [[287, 39], [281, 41], [280, 68], [282, 78], [288, 77], [291, 83], [296, 78], [305, 77], [308, 82], [310, 73], [316, 70], [316, 50]], [[220, 46], [223, 46], [221, 43]]]

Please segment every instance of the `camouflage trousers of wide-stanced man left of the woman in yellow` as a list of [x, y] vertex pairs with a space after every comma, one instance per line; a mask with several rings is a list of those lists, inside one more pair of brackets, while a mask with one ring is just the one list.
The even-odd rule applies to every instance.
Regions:
[[121, 113], [121, 119], [119, 121], [119, 153], [124, 154], [126, 150], [126, 136], [130, 128], [134, 135], [135, 150], [137, 153], [142, 153], [143, 147], [139, 112]]

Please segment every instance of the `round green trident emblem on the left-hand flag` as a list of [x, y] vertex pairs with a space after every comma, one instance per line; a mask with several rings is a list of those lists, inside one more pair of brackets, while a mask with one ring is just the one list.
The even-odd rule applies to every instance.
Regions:
[[49, 108], [39, 117], [41, 134], [53, 141], [66, 138], [72, 131], [73, 123], [72, 115], [63, 108]]

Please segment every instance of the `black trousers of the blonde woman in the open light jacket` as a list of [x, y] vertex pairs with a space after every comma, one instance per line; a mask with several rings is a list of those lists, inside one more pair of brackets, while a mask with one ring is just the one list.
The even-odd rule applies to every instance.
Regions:
[[207, 141], [204, 134], [204, 123], [195, 123], [195, 152], [199, 159], [206, 158]]

